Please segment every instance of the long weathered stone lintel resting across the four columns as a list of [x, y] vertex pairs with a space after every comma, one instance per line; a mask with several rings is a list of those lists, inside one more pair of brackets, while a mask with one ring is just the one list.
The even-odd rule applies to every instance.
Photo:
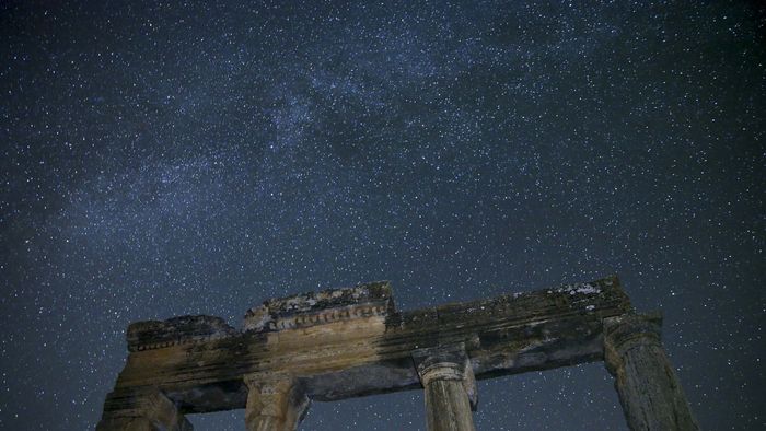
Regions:
[[156, 385], [184, 412], [244, 408], [243, 376], [268, 372], [301, 375], [311, 398], [337, 400], [418, 388], [413, 352], [461, 342], [478, 378], [545, 370], [601, 360], [602, 321], [632, 308], [610, 277], [403, 313], [387, 283], [269, 300], [256, 310], [266, 313], [251, 311], [241, 331], [204, 318], [207, 326], [186, 331], [197, 338], [170, 336], [173, 319], [131, 326], [142, 348], [131, 351], [116, 391]]

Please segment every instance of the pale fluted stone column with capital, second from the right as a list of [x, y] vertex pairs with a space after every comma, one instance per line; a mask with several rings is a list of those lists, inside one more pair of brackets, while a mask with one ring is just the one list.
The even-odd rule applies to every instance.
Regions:
[[413, 353], [425, 389], [429, 431], [474, 431], [476, 381], [463, 346]]

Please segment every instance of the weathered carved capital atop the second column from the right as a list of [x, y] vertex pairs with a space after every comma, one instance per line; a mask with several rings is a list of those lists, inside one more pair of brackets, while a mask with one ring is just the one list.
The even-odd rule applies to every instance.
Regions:
[[476, 410], [478, 391], [465, 343], [418, 349], [413, 352], [413, 361], [423, 387], [434, 381], [460, 381], [471, 401], [471, 409]]

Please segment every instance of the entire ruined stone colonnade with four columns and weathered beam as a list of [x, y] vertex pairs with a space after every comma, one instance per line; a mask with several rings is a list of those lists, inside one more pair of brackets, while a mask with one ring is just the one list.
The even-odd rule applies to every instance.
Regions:
[[245, 408], [247, 430], [295, 430], [311, 400], [423, 388], [428, 429], [474, 430], [475, 378], [603, 360], [632, 430], [696, 430], [660, 341], [616, 277], [397, 312], [387, 282], [266, 301], [237, 330], [183, 316], [128, 328], [96, 427], [192, 430]]

